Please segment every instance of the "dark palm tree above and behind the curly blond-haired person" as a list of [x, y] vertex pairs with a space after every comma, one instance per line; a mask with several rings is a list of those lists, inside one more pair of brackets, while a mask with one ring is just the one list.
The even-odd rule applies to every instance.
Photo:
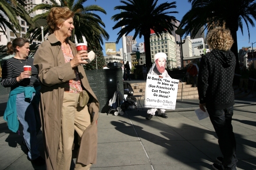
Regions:
[[188, 0], [192, 4], [181, 20], [180, 28], [184, 27], [186, 34], [196, 32], [206, 25], [205, 29], [212, 29], [215, 26], [222, 26], [231, 31], [234, 44], [231, 51], [236, 56], [236, 71], [239, 69], [237, 31], [241, 29], [243, 34], [242, 20], [245, 22], [249, 39], [249, 24], [254, 27], [252, 19], [256, 20], [255, 0]]

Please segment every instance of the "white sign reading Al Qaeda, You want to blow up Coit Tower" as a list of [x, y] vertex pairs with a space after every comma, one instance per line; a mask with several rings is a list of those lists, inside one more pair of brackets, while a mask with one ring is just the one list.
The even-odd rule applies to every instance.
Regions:
[[175, 110], [178, 84], [171, 77], [148, 74], [143, 107]]

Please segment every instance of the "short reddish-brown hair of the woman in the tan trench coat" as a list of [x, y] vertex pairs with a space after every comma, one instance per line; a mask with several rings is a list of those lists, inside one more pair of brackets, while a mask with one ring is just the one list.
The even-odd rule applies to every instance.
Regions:
[[53, 33], [57, 25], [62, 24], [70, 17], [74, 17], [75, 13], [68, 7], [53, 7], [47, 16], [47, 24], [50, 33]]

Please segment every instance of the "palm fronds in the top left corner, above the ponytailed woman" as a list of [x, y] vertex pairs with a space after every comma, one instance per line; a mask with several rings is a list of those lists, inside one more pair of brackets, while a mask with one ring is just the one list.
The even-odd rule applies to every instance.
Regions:
[[24, 6], [24, 0], [0, 0], [0, 28], [3, 31], [9, 28], [15, 34], [16, 30], [20, 32], [21, 26], [17, 19], [18, 16], [29, 24], [32, 24], [32, 19], [26, 12]]

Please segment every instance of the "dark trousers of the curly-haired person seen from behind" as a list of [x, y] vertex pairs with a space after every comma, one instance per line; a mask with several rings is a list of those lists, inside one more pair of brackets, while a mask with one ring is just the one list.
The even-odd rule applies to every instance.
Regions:
[[220, 151], [223, 154], [222, 165], [227, 170], [236, 170], [236, 141], [231, 125], [233, 106], [223, 110], [207, 108], [207, 111], [218, 136]]

